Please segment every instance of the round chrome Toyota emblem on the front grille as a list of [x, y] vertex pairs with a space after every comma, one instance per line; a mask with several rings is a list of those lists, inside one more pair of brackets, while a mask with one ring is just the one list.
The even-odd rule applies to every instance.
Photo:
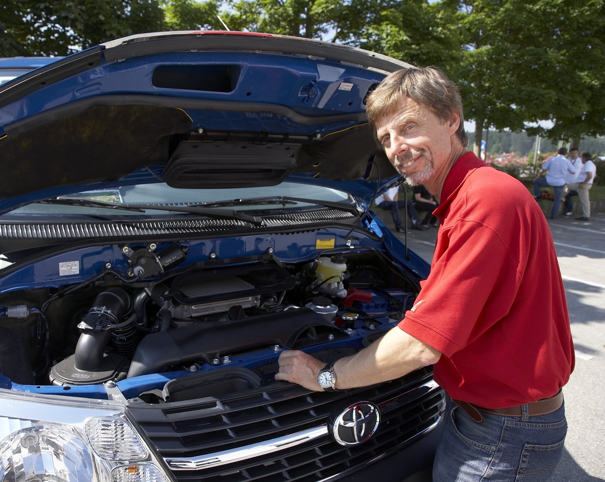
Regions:
[[371, 402], [357, 402], [345, 408], [334, 420], [334, 438], [340, 445], [359, 445], [374, 435], [380, 411]]

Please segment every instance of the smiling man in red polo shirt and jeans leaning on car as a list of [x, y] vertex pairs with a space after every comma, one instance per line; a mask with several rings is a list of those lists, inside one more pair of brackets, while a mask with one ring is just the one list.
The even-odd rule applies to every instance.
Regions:
[[439, 201], [431, 273], [378, 342], [329, 366], [284, 351], [275, 378], [346, 389], [434, 363], [448, 399], [433, 480], [548, 480], [574, 347], [545, 217], [521, 183], [466, 151], [462, 102], [439, 70], [391, 74], [367, 115], [397, 171]]

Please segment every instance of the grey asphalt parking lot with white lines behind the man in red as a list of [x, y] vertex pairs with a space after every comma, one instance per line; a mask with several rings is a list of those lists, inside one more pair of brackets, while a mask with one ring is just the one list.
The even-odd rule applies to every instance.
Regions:
[[[605, 481], [605, 213], [549, 220], [565, 285], [575, 370], [563, 389], [569, 429], [552, 482]], [[403, 240], [404, 235], [397, 235]], [[437, 229], [411, 231], [408, 247], [430, 262]]]

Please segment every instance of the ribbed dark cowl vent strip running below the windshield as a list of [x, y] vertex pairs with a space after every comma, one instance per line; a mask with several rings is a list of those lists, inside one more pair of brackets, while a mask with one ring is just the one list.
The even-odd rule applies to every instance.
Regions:
[[174, 235], [181, 233], [220, 232], [232, 229], [263, 229], [266, 227], [299, 226], [353, 218], [355, 215], [340, 209], [305, 213], [289, 213], [263, 218], [261, 226], [252, 226], [240, 220], [172, 220], [137, 221], [125, 223], [36, 223], [0, 224], [0, 238], [4, 239], [74, 239]]

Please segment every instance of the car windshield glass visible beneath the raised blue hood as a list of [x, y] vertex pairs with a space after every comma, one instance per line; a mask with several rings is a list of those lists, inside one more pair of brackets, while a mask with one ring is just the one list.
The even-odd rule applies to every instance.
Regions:
[[[181, 212], [171, 212], [170, 206], [188, 206], [201, 203], [218, 203], [218, 201], [229, 200], [262, 200], [265, 198], [304, 198], [314, 201], [326, 201], [332, 203], [352, 203], [352, 198], [342, 191], [324, 186], [314, 186], [312, 184], [285, 182], [277, 186], [264, 187], [244, 187], [237, 189], [176, 189], [165, 183], [157, 184], [137, 184], [134, 186], [116, 187], [113, 189], [100, 189], [97, 191], [76, 192], [70, 195], [61, 196], [61, 199], [87, 199], [94, 201], [103, 201], [112, 204], [149, 204], [151, 206], [166, 206], [165, 210], [148, 209], [144, 212], [137, 210], [115, 210], [103, 206], [70, 206], [66, 204], [44, 204], [32, 203], [27, 206], [19, 207], [11, 212], [0, 216], [3, 220], [15, 220], [21, 216], [27, 216], [27, 220], [32, 220], [31, 215], [39, 217], [64, 217], [83, 216], [83, 217], [177, 217], [187, 215]], [[293, 201], [284, 206], [282, 203], [275, 204], [234, 204], [229, 209], [233, 210], [283, 210], [283, 209], [301, 209], [301, 207], [313, 206], [315, 203], [306, 203], [302, 201]]]

